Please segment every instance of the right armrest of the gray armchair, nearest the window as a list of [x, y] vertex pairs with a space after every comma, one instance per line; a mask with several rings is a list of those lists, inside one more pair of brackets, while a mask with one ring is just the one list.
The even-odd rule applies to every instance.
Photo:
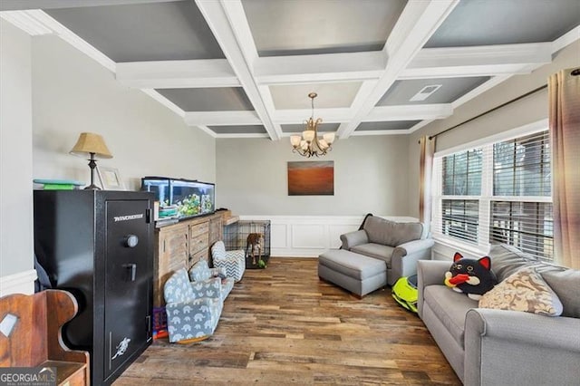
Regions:
[[400, 277], [415, 275], [419, 260], [430, 260], [433, 244], [435, 242], [429, 238], [412, 240], [395, 247], [391, 255], [389, 285], [394, 285]]

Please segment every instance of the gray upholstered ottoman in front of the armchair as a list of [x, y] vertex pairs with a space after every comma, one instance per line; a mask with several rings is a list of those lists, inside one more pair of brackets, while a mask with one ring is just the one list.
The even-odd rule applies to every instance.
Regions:
[[387, 285], [387, 265], [376, 258], [331, 249], [318, 256], [318, 276], [362, 297]]

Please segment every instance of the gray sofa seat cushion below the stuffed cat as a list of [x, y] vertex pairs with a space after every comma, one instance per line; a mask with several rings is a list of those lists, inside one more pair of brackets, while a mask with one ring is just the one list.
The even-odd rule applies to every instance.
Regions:
[[469, 299], [465, 294], [459, 294], [445, 285], [428, 285], [424, 289], [423, 297], [453, 339], [464, 348], [465, 314], [470, 308], [477, 308], [478, 301]]

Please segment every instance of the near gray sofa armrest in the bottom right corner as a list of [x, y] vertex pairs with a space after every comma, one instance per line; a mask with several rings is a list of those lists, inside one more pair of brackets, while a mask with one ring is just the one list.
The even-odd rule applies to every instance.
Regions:
[[471, 309], [465, 322], [465, 384], [575, 384], [579, 331], [576, 318]]

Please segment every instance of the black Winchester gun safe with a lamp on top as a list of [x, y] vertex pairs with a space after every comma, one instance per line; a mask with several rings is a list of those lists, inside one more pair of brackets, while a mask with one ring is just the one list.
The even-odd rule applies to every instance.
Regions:
[[151, 343], [153, 199], [34, 191], [34, 252], [53, 287], [79, 303], [63, 339], [90, 352], [93, 385], [111, 384]]

